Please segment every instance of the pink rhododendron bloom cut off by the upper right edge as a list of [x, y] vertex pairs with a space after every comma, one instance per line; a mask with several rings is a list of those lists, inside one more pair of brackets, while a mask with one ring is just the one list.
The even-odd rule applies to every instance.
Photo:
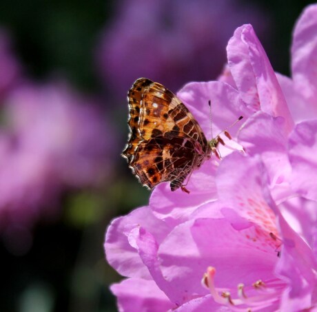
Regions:
[[291, 185], [299, 194], [317, 200], [315, 155], [317, 122], [317, 5], [308, 6], [298, 19], [292, 42], [292, 79], [278, 75], [294, 121], [289, 137]]

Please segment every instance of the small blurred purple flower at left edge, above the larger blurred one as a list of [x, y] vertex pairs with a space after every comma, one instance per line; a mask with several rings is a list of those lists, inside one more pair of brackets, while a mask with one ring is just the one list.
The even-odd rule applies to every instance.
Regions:
[[10, 37], [0, 29], [0, 103], [7, 92], [17, 83], [21, 65], [12, 53]]

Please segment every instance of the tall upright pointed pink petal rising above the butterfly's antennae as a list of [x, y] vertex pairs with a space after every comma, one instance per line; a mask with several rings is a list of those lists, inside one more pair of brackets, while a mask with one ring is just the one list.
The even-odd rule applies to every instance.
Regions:
[[269, 59], [258, 41], [252, 25], [237, 28], [227, 45], [232, 76], [243, 101], [250, 108], [285, 118], [285, 129], [293, 127], [283, 92]]

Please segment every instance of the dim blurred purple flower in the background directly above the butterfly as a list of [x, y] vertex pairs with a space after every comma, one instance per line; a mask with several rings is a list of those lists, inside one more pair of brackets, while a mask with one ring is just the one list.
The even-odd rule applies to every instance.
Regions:
[[105, 85], [115, 96], [148, 77], [177, 90], [187, 81], [216, 78], [232, 31], [251, 22], [267, 32], [267, 17], [238, 0], [120, 1], [97, 51]]

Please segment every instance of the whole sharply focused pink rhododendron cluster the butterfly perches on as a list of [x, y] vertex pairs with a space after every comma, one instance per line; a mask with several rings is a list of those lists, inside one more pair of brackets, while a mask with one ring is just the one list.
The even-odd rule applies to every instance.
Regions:
[[[294, 31], [302, 64], [316, 57], [307, 51], [315, 49], [316, 8]], [[126, 277], [111, 287], [120, 311], [317, 309], [317, 119], [294, 114], [297, 98], [315, 94], [313, 71], [300, 67], [311, 88], [288, 88], [295, 76], [274, 73], [251, 25], [236, 29], [227, 56], [219, 81], [190, 83], [178, 96], [207, 138], [209, 99], [214, 133], [243, 115], [230, 134], [245, 153], [219, 147], [223, 159], [193, 172], [190, 195], [161, 184], [147, 207], [112, 221], [105, 254]]]

